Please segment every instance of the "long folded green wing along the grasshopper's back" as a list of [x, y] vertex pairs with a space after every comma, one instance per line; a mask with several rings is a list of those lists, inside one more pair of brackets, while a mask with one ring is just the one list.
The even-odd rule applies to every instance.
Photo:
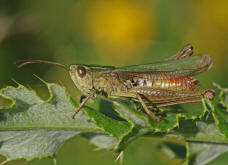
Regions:
[[177, 60], [162, 61], [151, 64], [131, 65], [116, 68], [119, 72], [164, 73], [166, 75], [193, 76], [209, 70], [212, 59], [206, 54], [189, 56]]

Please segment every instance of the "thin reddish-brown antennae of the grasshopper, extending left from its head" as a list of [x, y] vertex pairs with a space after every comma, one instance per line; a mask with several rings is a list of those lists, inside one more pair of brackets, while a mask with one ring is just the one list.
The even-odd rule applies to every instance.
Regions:
[[14, 64], [18, 64], [18, 68], [21, 68], [27, 64], [35, 64], [35, 63], [55, 65], [69, 71], [69, 68], [67, 68], [63, 64], [60, 64], [57, 62], [45, 61], [45, 60], [20, 60], [20, 61], [16, 61]]

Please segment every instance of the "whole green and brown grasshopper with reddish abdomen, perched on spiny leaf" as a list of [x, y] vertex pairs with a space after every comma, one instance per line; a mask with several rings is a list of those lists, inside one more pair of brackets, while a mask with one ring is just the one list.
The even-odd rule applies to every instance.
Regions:
[[16, 63], [19, 63], [19, 68], [31, 63], [45, 63], [69, 71], [74, 84], [83, 93], [73, 119], [91, 97], [102, 94], [108, 98], [139, 102], [152, 119], [160, 121], [151, 111], [154, 108], [201, 102], [202, 98], [213, 99], [215, 96], [212, 89], [195, 90], [200, 83], [190, 77], [209, 70], [213, 65], [211, 57], [192, 54], [193, 47], [189, 44], [165, 61], [125, 67], [75, 64], [68, 68], [43, 60]]

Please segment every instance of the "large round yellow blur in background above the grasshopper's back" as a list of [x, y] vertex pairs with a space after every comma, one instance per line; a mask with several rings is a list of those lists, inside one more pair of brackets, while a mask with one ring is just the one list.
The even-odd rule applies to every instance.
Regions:
[[155, 13], [130, 1], [95, 1], [85, 8], [84, 33], [100, 58], [139, 58], [154, 39]]

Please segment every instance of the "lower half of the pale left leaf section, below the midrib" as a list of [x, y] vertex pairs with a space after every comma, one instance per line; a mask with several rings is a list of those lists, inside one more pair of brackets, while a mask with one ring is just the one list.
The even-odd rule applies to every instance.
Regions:
[[62, 143], [78, 134], [80, 131], [1, 131], [0, 154], [7, 160], [53, 157]]

